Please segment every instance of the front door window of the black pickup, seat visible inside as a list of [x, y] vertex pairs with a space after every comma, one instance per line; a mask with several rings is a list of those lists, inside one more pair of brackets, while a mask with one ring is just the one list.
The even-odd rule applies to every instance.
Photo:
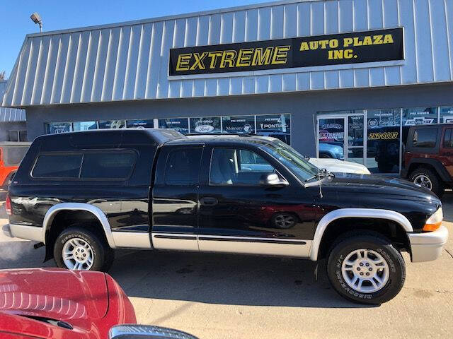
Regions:
[[211, 157], [211, 185], [260, 184], [263, 174], [275, 169], [267, 160], [250, 150], [214, 148]]

